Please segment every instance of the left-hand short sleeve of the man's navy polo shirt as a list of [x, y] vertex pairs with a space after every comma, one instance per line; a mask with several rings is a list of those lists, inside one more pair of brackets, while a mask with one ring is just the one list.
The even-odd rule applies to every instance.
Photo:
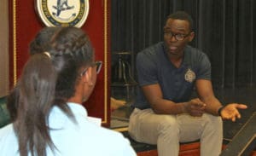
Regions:
[[137, 78], [140, 86], [157, 84], [157, 65], [154, 61], [154, 55], [140, 52], [137, 54]]

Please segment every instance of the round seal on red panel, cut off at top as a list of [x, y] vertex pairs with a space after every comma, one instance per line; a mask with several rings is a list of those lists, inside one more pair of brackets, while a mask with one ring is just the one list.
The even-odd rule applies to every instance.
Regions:
[[89, 13], [89, 0], [36, 0], [36, 10], [46, 26], [81, 27]]

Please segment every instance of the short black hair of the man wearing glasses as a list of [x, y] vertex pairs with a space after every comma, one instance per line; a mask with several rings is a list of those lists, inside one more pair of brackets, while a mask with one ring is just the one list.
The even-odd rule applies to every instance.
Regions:
[[193, 19], [192, 17], [186, 13], [185, 11], [177, 11], [175, 13], [172, 13], [170, 15], [167, 16], [167, 19], [176, 19], [176, 20], [187, 20], [189, 22], [189, 28], [190, 28], [190, 31], [193, 30]]

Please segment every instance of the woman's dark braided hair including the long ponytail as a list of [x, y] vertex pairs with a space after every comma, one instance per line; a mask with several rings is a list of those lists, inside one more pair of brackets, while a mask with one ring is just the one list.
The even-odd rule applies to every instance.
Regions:
[[[48, 54], [48, 53], [47, 53]], [[79, 28], [61, 27], [50, 39], [49, 56], [32, 55], [23, 69], [16, 91], [18, 104], [14, 111], [15, 133], [20, 156], [45, 156], [46, 148], [55, 145], [49, 136], [49, 112], [60, 107], [75, 122], [67, 106], [75, 94], [82, 67], [90, 66], [94, 51], [89, 37]], [[10, 101], [12, 101], [10, 97]]]

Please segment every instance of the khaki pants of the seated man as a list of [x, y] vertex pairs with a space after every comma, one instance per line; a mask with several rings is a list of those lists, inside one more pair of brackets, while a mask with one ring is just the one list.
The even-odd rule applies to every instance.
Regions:
[[202, 117], [155, 114], [152, 109], [135, 108], [129, 122], [130, 136], [137, 142], [157, 144], [159, 156], [177, 156], [179, 142], [200, 139], [201, 156], [218, 156], [223, 142], [220, 117], [204, 113]]

